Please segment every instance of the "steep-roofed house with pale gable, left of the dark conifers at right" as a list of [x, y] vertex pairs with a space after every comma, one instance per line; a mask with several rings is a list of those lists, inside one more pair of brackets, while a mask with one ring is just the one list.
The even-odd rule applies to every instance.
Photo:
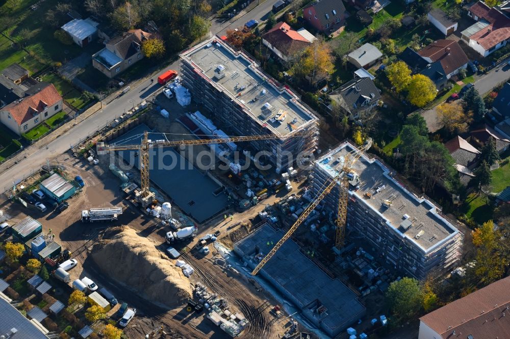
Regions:
[[472, 170], [476, 167], [481, 152], [458, 135], [449, 140], [445, 147], [455, 160], [455, 168], [461, 183], [467, 185], [474, 177]]

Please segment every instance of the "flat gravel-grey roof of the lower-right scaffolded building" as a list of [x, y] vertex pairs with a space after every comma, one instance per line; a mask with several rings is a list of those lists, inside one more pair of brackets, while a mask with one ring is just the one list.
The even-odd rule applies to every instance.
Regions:
[[[341, 171], [344, 157], [353, 150], [353, 146], [344, 142], [339, 147], [325, 153], [316, 160], [316, 164], [331, 176], [337, 176]], [[349, 191], [370, 209], [382, 216], [396, 232], [418, 245], [425, 252], [430, 251], [445, 239], [453, 237], [458, 230], [439, 212], [439, 208], [430, 200], [418, 197], [403, 184], [392, 178], [390, 169], [377, 159], [370, 159], [365, 153], [354, 163], [352, 169], [358, 174], [360, 189]], [[384, 189], [375, 193], [375, 190]], [[371, 199], [365, 193], [372, 193]], [[383, 201], [391, 201], [386, 208]], [[405, 232], [399, 229], [400, 223], [406, 218], [412, 222]], [[418, 236], [419, 235], [419, 236]], [[418, 236], [418, 238], [416, 238]]]

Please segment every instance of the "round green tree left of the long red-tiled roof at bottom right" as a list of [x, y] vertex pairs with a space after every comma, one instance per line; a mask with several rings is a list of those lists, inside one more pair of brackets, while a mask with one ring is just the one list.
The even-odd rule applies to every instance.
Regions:
[[418, 280], [403, 277], [393, 281], [386, 291], [386, 301], [397, 318], [411, 319], [420, 310], [422, 303]]

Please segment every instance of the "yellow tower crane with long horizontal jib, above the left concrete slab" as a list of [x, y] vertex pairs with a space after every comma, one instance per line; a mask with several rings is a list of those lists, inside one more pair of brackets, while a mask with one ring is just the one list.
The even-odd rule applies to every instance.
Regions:
[[[162, 133], [164, 134], [164, 133]], [[306, 131], [293, 133], [287, 137], [303, 136]], [[104, 155], [107, 152], [114, 151], [139, 151], [140, 154], [140, 198], [148, 202], [153, 193], [150, 192], [149, 187], [149, 149], [154, 147], [175, 147], [175, 146], [192, 146], [192, 145], [209, 145], [209, 144], [222, 144], [230, 142], [245, 142], [252, 140], [269, 140], [280, 139], [284, 136], [277, 134], [262, 134], [250, 136], [228, 136], [214, 139], [191, 139], [191, 140], [151, 140], [148, 138], [148, 132], [143, 132], [141, 144], [133, 145], [106, 145], [104, 142], [98, 142], [96, 145], [96, 152], [98, 155]]]

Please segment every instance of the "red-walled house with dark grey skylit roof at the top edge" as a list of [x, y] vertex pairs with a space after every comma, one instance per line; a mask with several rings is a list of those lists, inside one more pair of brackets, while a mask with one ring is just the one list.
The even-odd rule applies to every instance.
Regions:
[[345, 6], [339, 0], [318, 0], [303, 9], [303, 18], [319, 32], [332, 32], [345, 19]]

